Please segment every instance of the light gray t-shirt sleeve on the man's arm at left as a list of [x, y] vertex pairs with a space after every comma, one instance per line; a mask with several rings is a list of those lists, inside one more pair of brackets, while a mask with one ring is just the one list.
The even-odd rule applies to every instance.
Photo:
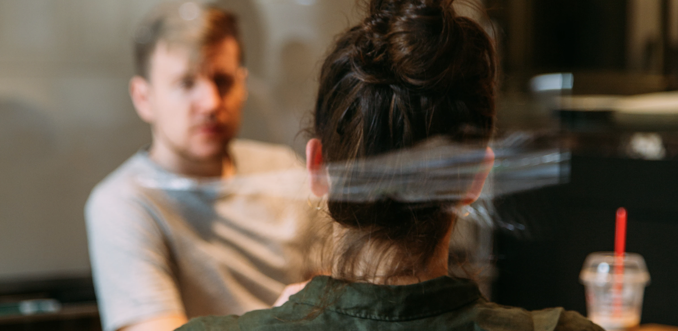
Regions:
[[184, 314], [169, 249], [148, 206], [98, 188], [87, 201], [85, 219], [104, 331]]

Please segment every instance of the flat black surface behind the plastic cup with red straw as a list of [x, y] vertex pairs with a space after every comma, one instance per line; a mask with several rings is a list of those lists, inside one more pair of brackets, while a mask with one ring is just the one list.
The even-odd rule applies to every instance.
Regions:
[[616, 209], [629, 213], [627, 250], [645, 258], [643, 323], [678, 325], [678, 162], [572, 157], [570, 182], [496, 201], [502, 219], [525, 231], [499, 231], [493, 299], [525, 309], [564, 307], [586, 315], [578, 282], [586, 255], [614, 250]]

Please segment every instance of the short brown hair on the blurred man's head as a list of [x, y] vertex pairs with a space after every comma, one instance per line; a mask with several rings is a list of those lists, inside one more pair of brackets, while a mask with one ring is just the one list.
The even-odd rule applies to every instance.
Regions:
[[196, 53], [196, 58], [200, 58], [210, 47], [228, 37], [237, 41], [240, 48], [239, 60], [242, 62], [243, 46], [235, 14], [213, 4], [202, 5], [186, 1], [161, 3], [148, 13], [136, 30], [136, 74], [148, 79], [151, 56], [159, 41], [188, 47]]

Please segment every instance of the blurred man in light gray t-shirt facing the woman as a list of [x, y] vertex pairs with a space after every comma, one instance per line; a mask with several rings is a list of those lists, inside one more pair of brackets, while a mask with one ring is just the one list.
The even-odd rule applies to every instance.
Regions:
[[233, 139], [247, 97], [235, 17], [164, 3], [135, 42], [129, 91], [153, 142], [85, 207], [104, 330], [174, 330], [271, 307], [308, 277], [300, 239], [313, 208], [301, 186], [272, 196], [270, 180], [256, 180], [302, 169], [292, 150]]

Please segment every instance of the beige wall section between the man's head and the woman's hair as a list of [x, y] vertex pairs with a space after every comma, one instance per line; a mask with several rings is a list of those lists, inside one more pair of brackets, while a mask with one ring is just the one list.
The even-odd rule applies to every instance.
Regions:
[[247, 59], [250, 100], [243, 137], [283, 142], [302, 153], [305, 137], [297, 134], [306, 127], [300, 123], [308, 122], [313, 107], [323, 54], [334, 35], [355, 22], [355, 0], [221, 2], [240, 12], [243, 22], [263, 26], [259, 35], [245, 35], [246, 47], [261, 51], [252, 54], [258, 58]]

